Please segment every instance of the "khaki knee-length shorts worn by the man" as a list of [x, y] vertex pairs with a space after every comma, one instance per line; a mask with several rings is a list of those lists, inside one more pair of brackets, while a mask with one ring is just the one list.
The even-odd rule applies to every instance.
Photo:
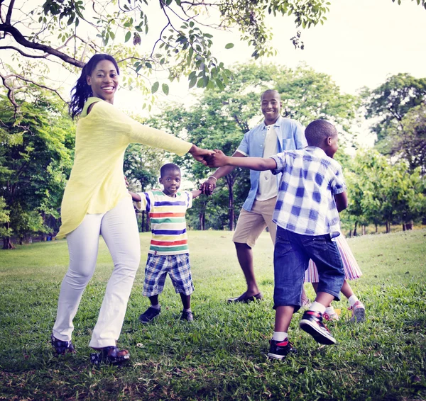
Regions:
[[275, 244], [277, 227], [272, 221], [272, 215], [276, 201], [276, 196], [268, 200], [255, 200], [250, 212], [241, 209], [232, 241], [253, 248], [256, 239], [268, 227], [272, 242]]

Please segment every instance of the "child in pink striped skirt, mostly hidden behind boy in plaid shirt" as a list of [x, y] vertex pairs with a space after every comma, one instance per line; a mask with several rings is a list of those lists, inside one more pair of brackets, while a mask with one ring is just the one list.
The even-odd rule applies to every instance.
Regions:
[[[348, 298], [349, 304], [351, 305], [349, 307], [349, 310], [352, 311], [351, 321], [363, 322], [365, 319], [366, 308], [364, 307], [364, 304], [361, 303], [361, 301], [356, 297], [356, 295], [354, 295], [354, 291], [347, 282], [347, 280], [355, 280], [356, 278], [362, 276], [361, 269], [359, 269], [354, 254], [352, 254], [351, 248], [349, 248], [349, 245], [342, 234], [336, 237], [336, 244], [337, 248], [339, 249], [340, 256], [342, 257], [345, 274], [345, 280], [343, 282], [341, 291], [342, 294]], [[317, 266], [315, 266], [314, 261], [311, 259], [309, 261], [309, 267], [305, 272], [305, 283], [312, 283], [312, 287], [315, 291], [317, 291], [318, 280]], [[331, 304], [325, 310], [324, 318], [327, 320], [339, 320], [339, 315], [337, 315], [334, 307], [332, 307]]]

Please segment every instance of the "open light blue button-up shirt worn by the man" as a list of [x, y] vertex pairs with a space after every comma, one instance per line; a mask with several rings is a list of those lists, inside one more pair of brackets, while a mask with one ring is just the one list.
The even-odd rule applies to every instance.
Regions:
[[[278, 153], [283, 152], [284, 150], [303, 149], [307, 146], [305, 128], [297, 123], [297, 121], [280, 116], [274, 124], [274, 127], [278, 137]], [[246, 132], [238, 149], [236, 149], [237, 152], [249, 157], [263, 157], [267, 129], [265, 122], [263, 122], [256, 125], [256, 127], [249, 130], [249, 132]], [[247, 196], [243, 205], [243, 208], [247, 211], [251, 210], [254, 200], [256, 199], [260, 175], [260, 171], [250, 170], [251, 187], [249, 196]], [[278, 174], [277, 187], [280, 182], [280, 178], [280, 174]]]

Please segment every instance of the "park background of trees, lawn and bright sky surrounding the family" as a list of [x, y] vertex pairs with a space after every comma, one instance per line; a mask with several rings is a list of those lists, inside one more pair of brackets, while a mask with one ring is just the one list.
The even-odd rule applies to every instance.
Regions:
[[[111, 1], [0, 4], [0, 399], [424, 400], [425, 2], [226, 1], [222, 14], [199, 5], [197, 17], [186, 26], [180, 21], [156, 43], [165, 14], [171, 18], [179, 3], [124, 1], [119, 14]], [[262, 19], [265, 4], [277, 16], [266, 12]], [[132, 6], [141, 6], [143, 15], [131, 11], [131, 21], [126, 7]], [[101, 13], [93, 19], [95, 10]], [[214, 30], [219, 23], [230, 28]], [[225, 303], [244, 288], [231, 230], [249, 176], [236, 169], [187, 213], [195, 324], [176, 322], [179, 300], [168, 282], [165, 314], [141, 328], [137, 317], [147, 303], [140, 269], [120, 339], [131, 349], [131, 366], [90, 366], [87, 343], [112, 266], [101, 239], [97, 272], [75, 319], [79, 354], [55, 358], [48, 339], [67, 247], [50, 239], [60, 225], [75, 145], [65, 101], [94, 52], [121, 61], [116, 106], [202, 147], [234, 152], [244, 132], [261, 122], [260, 94], [271, 87], [283, 98], [283, 116], [304, 125], [314, 118], [335, 123], [337, 159], [349, 187], [342, 229], [364, 272], [351, 284], [366, 304], [366, 322], [351, 324], [342, 300], [342, 321], [332, 327], [338, 346], [313, 343], [295, 319], [300, 356], [285, 363], [266, 359], [273, 328], [268, 233], [254, 252], [266, 300]], [[131, 145], [124, 162], [131, 188], [155, 187], [160, 165], [170, 160], [182, 167], [185, 188], [209, 175], [190, 158]], [[148, 220], [138, 219], [146, 256]]]

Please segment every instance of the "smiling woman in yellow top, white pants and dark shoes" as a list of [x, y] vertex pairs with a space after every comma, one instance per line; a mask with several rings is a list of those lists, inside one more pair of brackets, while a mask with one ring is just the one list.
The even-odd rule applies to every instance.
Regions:
[[[126, 147], [142, 143], [204, 163], [212, 151], [200, 149], [173, 135], [141, 125], [113, 106], [119, 86], [119, 67], [110, 55], [94, 55], [72, 89], [70, 115], [77, 122], [75, 160], [62, 199], [62, 226], [57, 238], [67, 237], [70, 266], [60, 288], [58, 313], [51, 337], [58, 354], [74, 353], [72, 320], [82, 293], [94, 273], [99, 235], [114, 261], [97, 324], [89, 343], [99, 351], [92, 362], [121, 363], [129, 351], [116, 341], [126, 313], [141, 249], [133, 203], [123, 179]], [[205, 164], [205, 163], [204, 163]]]

